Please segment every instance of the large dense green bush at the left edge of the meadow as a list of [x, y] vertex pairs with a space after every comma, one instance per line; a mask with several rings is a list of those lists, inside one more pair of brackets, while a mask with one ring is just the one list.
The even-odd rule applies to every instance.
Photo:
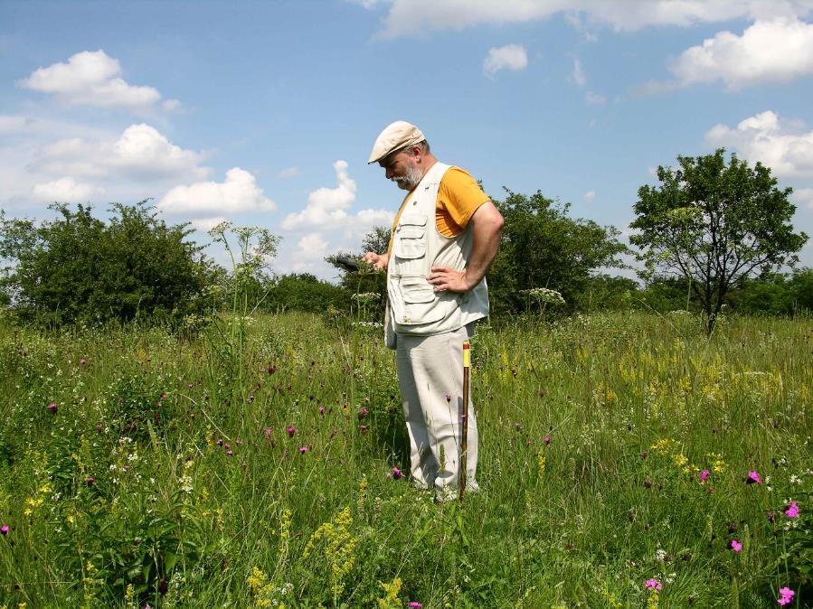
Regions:
[[4, 291], [20, 314], [53, 323], [178, 321], [200, 313], [213, 265], [186, 240], [186, 225], [167, 226], [146, 201], [114, 203], [108, 223], [90, 206], [55, 203], [54, 220], [0, 218]]

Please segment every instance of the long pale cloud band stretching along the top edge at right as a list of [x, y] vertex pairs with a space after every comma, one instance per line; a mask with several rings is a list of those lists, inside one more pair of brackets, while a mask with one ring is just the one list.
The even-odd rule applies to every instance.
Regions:
[[685, 27], [769, 15], [801, 17], [811, 9], [809, 0], [393, 0], [381, 35], [394, 38], [430, 30], [462, 30], [479, 23], [527, 23], [573, 13], [576, 19], [572, 23], [634, 31], [649, 25]]

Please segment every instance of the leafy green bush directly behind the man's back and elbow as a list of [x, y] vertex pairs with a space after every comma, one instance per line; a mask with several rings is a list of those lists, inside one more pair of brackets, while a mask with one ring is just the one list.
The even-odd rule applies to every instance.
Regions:
[[505, 201], [492, 198], [505, 220], [502, 243], [487, 280], [496, 312], [520, 312], [520, 290], [547, 287], [573, 308], [584, 303], [591, 276], [600, 267], [623, 267], [626, 247], [619, 231], [593, 220], [572, 219], [570, 204], [506, 189]]

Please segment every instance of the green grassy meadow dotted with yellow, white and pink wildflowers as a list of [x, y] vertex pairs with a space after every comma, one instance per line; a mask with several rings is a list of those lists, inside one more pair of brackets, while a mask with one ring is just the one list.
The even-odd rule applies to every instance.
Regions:
[[481, 325], [462, 504], [403, 475], [381, 333], [6, 314], [0, 607], [813, 604], [809, 318]]

